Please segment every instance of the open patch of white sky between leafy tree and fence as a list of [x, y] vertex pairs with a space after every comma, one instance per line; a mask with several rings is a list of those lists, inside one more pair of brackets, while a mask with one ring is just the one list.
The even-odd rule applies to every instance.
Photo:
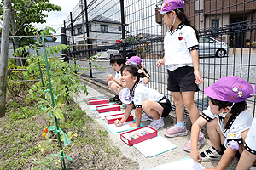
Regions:
[[[49, 12], [46, 23], [35, 25], [38, 28], [44, 28], [45, 26], [51, 26], [57, 31], [57, 34], [61, 34], [61, 26], [63, 26], [63, 20], [67, 19], [69, 13], [79, 3], [79, 0], [49, 0], [49, 3], [61, 6], [61, 11]], [[56, 37], [57, 42], [61, 42], [61, 37]]]

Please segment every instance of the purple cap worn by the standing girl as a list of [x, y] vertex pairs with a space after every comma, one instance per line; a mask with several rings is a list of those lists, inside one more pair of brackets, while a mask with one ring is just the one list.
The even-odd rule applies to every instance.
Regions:
[[160, 12], [160, 14], [165, 14], [177, 8], [184, 8], [184, 6], [185, 3], [183, 0], [166, 0], [165, 3], [162, 4], [161, 9], [158, 10], [158, 12]]

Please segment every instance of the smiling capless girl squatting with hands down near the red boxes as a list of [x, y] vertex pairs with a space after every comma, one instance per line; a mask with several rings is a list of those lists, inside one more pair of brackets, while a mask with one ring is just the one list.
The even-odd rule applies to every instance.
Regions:
[[142, 110], [153, 119], [149, 127], [159, 129], [164, 127], [163, 117], [169, 115], [171, 103], [163, 94], [154, 89], [144, 87], [138, 83], [140, 77], [145, 77], [143, 71], [136, 65], [125, 65], [122, 69], [121, 83], [125, 87], [121, 90], [119, 96], [123, 103], [128, 104], [123, 118], [115, 121], [116, 126], [122, 126], [128, 116], [130, 116], [133, 105], [135, 105], [136, 122], [131, 122], [131, 127], [139, 127], [142, 118]]

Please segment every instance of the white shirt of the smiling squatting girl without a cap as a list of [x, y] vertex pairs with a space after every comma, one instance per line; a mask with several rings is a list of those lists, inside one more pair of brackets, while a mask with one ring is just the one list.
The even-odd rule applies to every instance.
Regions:
[[141, 108], [143, 101], [159, 102], [164, 97], [158, 91], [145, 87], [141, 83], [136, 83], [131, 90], [131, 99], [136, 107]]

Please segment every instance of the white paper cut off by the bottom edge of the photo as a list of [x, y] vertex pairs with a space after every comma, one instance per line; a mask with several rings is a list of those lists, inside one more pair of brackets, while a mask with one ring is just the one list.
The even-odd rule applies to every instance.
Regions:
[[156, 166], [158, 170], [169, 170], [172, 167], [173, 170], [201, 170], [205, 169], [201, 164], [195, 163], [190, 158], [185, 158], [183, 160], [173, 161], [164, 165]]

